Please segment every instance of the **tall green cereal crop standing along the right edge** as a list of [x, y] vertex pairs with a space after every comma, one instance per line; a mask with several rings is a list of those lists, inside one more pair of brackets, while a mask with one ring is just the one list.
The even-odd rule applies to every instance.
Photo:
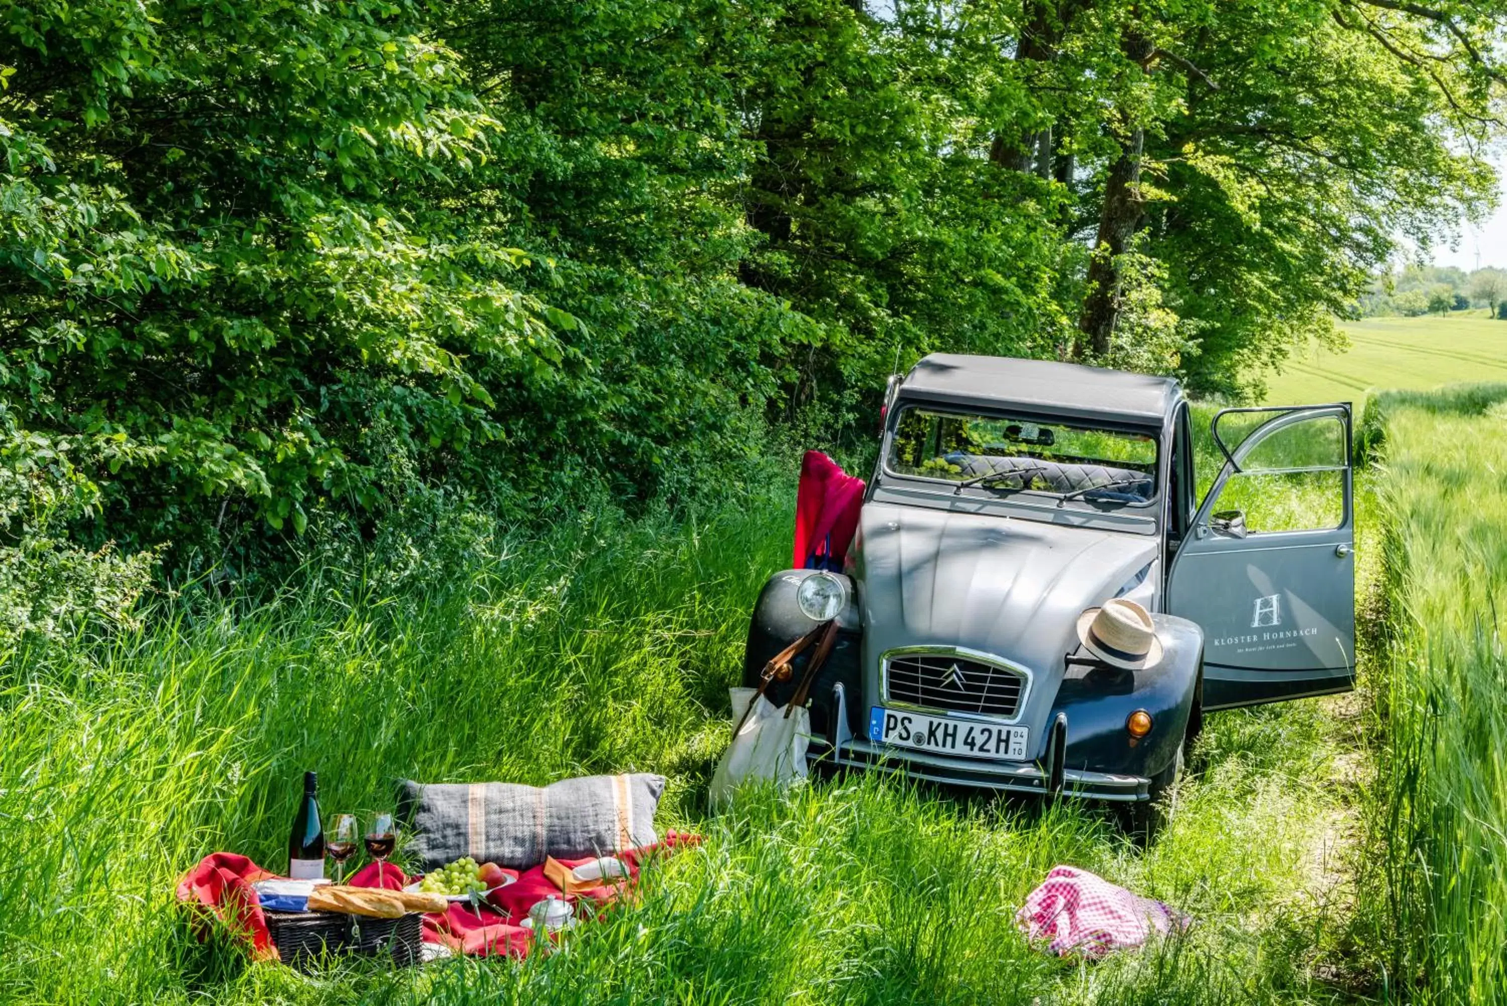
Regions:
[[1507, 1001], [1507, 385], [1376, 409], [1391, 646], [1370, 909], [1402, 994]]

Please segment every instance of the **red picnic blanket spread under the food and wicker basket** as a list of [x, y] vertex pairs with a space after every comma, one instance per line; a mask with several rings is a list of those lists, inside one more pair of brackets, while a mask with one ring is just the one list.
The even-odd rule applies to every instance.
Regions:
[[[544, 864], [523, 872], [505, 869], [503, 873], [517, 879], [493, 891], [485, 905], [473, 908], [469, 902], [455, 902], [445, 912], [425, 916], [423, 941], [439, 943], [458, 953], [473, 956], [526, 956], [533, 934], [520, 923], [527, 917], [529, 908], [535, 902], [553, 894], [571, 903], [586, 899], [606, 906], [637, 885], [639, 870], [648, 860], [699, 842], [701, 836], [671, 831], [663, 842], [618, 854], [618, 858], [628, 867], [628, 879], [622, 884], [592, 887], [576, 893], [562, 891], [555, 881], [544, 876]], [[582, 863], [591, 863], [592, 858], [561, 860], [561, 863], [567, 867], [576, 867]], [[273, 946], [267, 931], [267, 916], [256, 897], [256, 890], [252, 887], [258, 881], [276, 876], [244, 855], [214, 852], [184, 875], [178, 884], [178, 900], [197, 906], [206, 916], [238, 925], [250, 941], [252, 956], [276, 961], [277, 947]], [[347, 884], [399, 890], [413, 879], [392, 863], [381, 867], [378, 878], [378, 867], [371, 863], [357, 870]]]

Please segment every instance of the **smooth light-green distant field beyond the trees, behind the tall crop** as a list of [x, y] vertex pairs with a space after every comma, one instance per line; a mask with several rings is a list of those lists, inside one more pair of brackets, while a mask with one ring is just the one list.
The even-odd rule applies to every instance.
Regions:
[[1350, 348], [1311, 348], [1267, 380], [1273, 406], [1359, 401], [1370, 389], [1426, 391], [1456, 382], [1507, 380], [1507, 321], [1484, 311], [1447, 317], [1365, 318], [1344, 326]]

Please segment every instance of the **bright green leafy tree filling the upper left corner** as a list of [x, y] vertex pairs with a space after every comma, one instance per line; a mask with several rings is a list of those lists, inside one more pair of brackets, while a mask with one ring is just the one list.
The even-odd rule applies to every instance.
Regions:
[[419, 198], [499, 124], [416, 15], [11, 8], [0, 391], [24, 428], [131, 445], [110, 492], [154, 537], [196, 498], [298, 531], [371, 505], [386, 451], [496, 437], [499, 388], [559, 367], [573, 320], [515, 287], [529, 258]]

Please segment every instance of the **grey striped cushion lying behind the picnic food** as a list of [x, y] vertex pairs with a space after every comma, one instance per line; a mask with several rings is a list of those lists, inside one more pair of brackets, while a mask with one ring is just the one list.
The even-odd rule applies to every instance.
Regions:
[[514, 869], [657, 842], [665, 777], [586, 775], [543, 789], [515, 783], [399, 783], [407, 849], [423, 870], [469, 855]]

